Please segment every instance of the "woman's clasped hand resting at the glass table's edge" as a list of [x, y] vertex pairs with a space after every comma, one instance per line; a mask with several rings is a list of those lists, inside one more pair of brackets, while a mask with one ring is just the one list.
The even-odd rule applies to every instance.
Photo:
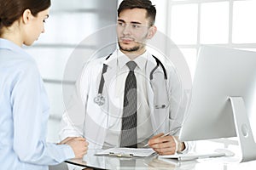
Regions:
[[75, 158], [83, 158], [88, 150], [88, 142], [82, 137], [68, 137], [59, 144], [68, 144], [73, 149]]

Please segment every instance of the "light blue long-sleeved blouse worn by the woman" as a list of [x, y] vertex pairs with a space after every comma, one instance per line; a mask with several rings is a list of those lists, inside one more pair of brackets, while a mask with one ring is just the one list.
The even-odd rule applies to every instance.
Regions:
[[13, 42], [0, 38], [0, 167], [48, 169], [74, 157], [67, 144], [45, 141], [49, 101], [37, 65]]

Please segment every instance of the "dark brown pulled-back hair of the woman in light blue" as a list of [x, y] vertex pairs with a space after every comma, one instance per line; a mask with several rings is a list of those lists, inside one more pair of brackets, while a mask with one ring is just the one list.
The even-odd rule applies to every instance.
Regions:
[[50, 6], [50, 0], [0, 0], [0, 35], [3, 27], [12, 26], [28, 8], [32, 15], [37, 16]]

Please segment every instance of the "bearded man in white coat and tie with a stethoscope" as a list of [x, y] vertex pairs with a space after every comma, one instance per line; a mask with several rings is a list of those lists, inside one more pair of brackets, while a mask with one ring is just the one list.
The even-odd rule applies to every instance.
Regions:
[[61, 139], [84, 136], [90, 149], [148, 144], [160, 155], [188, 150], [176, 136], [184, 114], [177, 73], [146, 49], [157, 31], [155, 14], [149, 0], [120, 3], [119, 49], [84, 66], [77, 95], [62, 117]]

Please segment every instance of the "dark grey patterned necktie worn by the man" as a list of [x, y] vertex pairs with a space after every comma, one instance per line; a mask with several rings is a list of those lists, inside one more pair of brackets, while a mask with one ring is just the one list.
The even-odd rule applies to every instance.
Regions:
[[121, 147], [137, 148], [137, 81], [134, 61], [126, 63], [130, 71], [125, 81], [124, 108], [121, 128]]

